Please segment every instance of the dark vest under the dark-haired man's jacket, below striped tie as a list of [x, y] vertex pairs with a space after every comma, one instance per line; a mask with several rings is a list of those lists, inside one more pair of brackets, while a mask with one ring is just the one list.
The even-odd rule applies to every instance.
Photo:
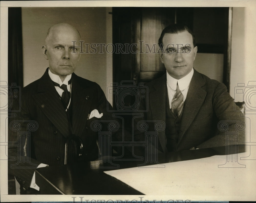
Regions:
[[180, 113], [179, 117], [176, 118], [169, 106], [169, 98], [168, 98], [168, 92], [166, 88], [166, 110], [165, 110], [165, 136], [167, 139], [167, 149], [168, 151], [176, 151], [177, 144], [178, 144], [178, 138], [180, 133], [180, 123], [182, 120], [182, 112]]

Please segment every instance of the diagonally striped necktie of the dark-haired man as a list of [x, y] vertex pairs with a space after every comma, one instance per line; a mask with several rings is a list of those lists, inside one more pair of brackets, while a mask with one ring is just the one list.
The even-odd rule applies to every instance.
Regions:
[[182, 112], [184, 106], [183, 102], [183, 94], [179, 90], [179, 85], [177, 82], [177, 88], [176, 88], [176, 93], [174, 94], [173, 100], [172, 100], [172, 113], [173, 115], [178, 118], [180, 113]]

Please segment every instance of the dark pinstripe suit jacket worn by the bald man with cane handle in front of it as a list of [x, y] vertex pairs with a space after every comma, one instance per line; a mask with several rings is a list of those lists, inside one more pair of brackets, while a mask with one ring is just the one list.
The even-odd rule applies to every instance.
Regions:
[[[85, 160], [98, 158], [98, 146], [96, 144], [98, 133], [90, 129], [91, 122], [97, 118], [87, 120], [88, 114], [97, 109], [99, 113], [103, 113], [103, 120], [111, 120], [112, 117], [108, 117], [107, 105], [110, 104], [97, 83], [72, 74], [72, 129], [73, 133], [83, 141], [86, 150]], [[21, 108], [17, 116], [12, 117], [9, 121], [9, 124], [12, 121], [18, 121], [21, 124], [21, 129], [17, 131], [9, 129], [8, 141], [17, 143], [17, 132], [28, 131], [26, 122], [22, 121], [36, 121], [38, 129], [31, 132], [28, 137], [32, 143], [29, 147], [31, 149], [30, 157], [34, 158], [31, 158], [30, 162], [34, 163], [35, 166], [34, 168], [24, 168], [31, 166], [31, 164], [20, 162], [15, 168], [9, 168], [8, 173], [15, 175], [18, 182], [23, 187], [28, 188], [38, 164], [63, 164], [65, 138], [71, 134], [67, 113], [48, 75], [48, 68], [40, 79], [23, 88]], [[22, 151], [23, 149], [18, 151], [16, 146], [10, 145], [8, 155], [17, 158], [18, 153], [22, 154]], [[16, 164], [17, 161], [9, 160], [8, 163], [9, 165]]]

